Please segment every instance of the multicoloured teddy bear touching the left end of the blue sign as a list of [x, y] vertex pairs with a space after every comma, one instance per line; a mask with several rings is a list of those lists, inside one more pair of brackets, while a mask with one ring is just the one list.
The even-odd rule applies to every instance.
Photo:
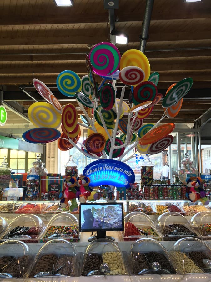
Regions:
[[77, 178], [78, 191], [76, 192], [76, 198], [80, 203], [86, 203], [87, 200], [97, 200], [98, 193], [89, 187], [89, 183], [90, 178], [87, 176], [81, 175]]

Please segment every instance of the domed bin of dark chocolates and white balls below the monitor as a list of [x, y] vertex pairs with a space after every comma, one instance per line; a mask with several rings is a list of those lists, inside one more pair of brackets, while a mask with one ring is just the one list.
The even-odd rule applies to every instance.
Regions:
[[88, 244], [80, 269], [81, 276], [128, 274], [119, 247], [109, 239], [96, 239]]

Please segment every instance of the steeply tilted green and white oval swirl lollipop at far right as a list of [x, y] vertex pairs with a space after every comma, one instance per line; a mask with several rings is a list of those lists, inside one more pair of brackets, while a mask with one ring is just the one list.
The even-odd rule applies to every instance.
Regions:
[[168, 108], [179, 102], [188, 93], [192, 84], [193, 79], [191, 77], [179, 81], [163, 98], [162, 107]]

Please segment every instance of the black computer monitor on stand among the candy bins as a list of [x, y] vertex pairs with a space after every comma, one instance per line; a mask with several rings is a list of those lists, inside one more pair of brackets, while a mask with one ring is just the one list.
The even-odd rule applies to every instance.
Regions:
[[79, 207], [79, 231], [92, 231], [89, 242], [95, 239], [107, 238], [106, 231], [124, 230], [123, 203], [85, 203]]

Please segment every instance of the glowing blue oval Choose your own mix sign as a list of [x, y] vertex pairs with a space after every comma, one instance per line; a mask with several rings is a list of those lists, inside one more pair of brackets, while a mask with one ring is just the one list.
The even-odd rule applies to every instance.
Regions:
[[90, 178], [90, 186], [113, 185], [116, 187], [130, 187], [135, 182], [132, 168], [113, 159], [99, 159], [87, 165], [83, 175]]

